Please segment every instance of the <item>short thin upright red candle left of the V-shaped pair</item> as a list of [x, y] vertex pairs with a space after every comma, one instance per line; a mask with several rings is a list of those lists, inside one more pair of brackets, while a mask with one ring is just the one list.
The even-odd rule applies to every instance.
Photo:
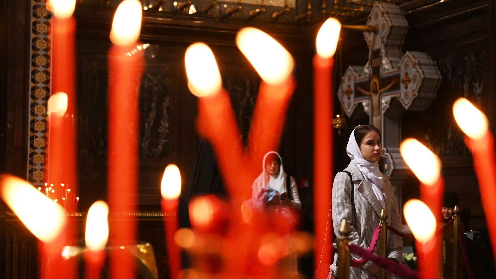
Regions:
[[181, 271], [181, 254], [174, 241], [178, 230], [178, 198], [181, 194], [181, 173], [179, 168], [168, 165], [165, 168], [161, 185], [162, 209], [164, 211], [164, 229], [166, 235], [167, 259], [169, 263], [169, 278], [178, 279]]

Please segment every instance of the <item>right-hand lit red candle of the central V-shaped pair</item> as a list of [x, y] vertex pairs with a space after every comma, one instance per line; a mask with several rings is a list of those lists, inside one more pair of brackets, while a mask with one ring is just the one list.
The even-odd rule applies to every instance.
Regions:
[[291, 75], [294, 60], [279, 42], [256, 28], [243, 28], [236, 44], [263, 80], [248, 142], [248, 157], [256, 176], [263, 156], [277, 150], [279, 144], [287, 106], [295, 89]]

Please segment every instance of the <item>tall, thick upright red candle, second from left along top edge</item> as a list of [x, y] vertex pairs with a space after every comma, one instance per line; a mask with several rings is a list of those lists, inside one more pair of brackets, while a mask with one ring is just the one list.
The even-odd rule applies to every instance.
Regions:
[[[117, 8], [110, 39], [108, 98], [108, 183], [112, 211], [121, 214], [111, 223], [112, 246], [134, 245], [139, 137], [138, 94], [143, 54], [134, 51], [141, 28], [142, 7], [138, 0], [124, 0]], [[135, 261], [130, 253], [116, 250], [110, 255], [114, 279], [134, 278]]]

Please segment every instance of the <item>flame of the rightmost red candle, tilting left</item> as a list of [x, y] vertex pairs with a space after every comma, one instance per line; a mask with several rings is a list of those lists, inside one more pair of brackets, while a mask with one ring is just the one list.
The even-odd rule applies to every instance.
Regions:
[[460, 98], [453, 104], [455, 121], [469, 138], [482, 139], [488, 133], [488, 118], [469, 100]]

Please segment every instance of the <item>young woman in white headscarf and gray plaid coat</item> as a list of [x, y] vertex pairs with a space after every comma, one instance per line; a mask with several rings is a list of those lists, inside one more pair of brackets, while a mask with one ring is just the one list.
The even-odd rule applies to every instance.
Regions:
[[[394, 187], [389, 182], [387, 175], [379, 171], [378, 161], [382, 151], [380, 132], [372, 125], [357, 126], [350, 135], [346, 153], [351, 159], [345, 169], [338, 172], [332, 188], [332, 222], [334, 233], [340, 236], [339, 226], [343, 219], [350, 222], [351, 243], [367, 249], [372, 241], [375, 227], [379, 224], [381, 209], [386, 209], [390, 225], [401, 231], [401, 217], [398, 204], [394, 195]], [[354, 191], [352, 204], [351, 191]], [[375, 247], [378, 252], [379, 245]], [[386, 258], [401, 263], [403, 240], [401, 237], [387, 234]], [[354, 259], [359, 259], [353, 255]], [[332, 273], [336, 276], [337, 254], [331, 265]], [[350, 279], [373, 278], [378, 275], [378, 267], [371, 261], [361, 268], [350, 268]], [[386, 278], [391, 275], [387, 273]]]

